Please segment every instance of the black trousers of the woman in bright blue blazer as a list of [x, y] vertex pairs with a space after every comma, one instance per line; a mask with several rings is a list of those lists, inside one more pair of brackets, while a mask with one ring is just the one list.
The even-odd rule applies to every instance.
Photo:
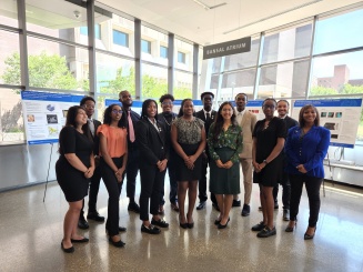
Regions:
[[320, 211], [320, 187], [323, 182], [322, 178], [309, 177], [305, 174], [290, 174], [291, 182], [291, 200], [290, 200], [290, 220], [296, 220], [299, 213], [299, 204], [302, 194], [302, 188], [305, 183], [309, 199], [309, 226], [316, 226]]

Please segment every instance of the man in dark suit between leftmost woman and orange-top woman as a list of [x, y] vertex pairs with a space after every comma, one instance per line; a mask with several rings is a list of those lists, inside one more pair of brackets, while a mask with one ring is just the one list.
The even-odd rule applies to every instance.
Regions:
[[[99, 154], [99, 138], [97, 137], [97, 129], [99, 125], [101, 125], [101, 122], [92, 119], [92, 115], [94, 113], [94, 105], [95, 101], [92, 97], [84, 97], [80, 105], [84, 108], [87, 117], [88, 117], [88, 134], [92, 138], [93, 140], [93, 155], [94, 155], [94, 162], [95, 162], [95, 169], [93, 172], [92, 178], [90, 179], [90, 193], [89, 193], [89, 202], [88, 202], [88, 215], [87, 219], [94, 220], [97, 222], [104, 222], [104, 218], [100, 216], [95, 209], [97, 204], [97, 195], [99, 193], [100, 189], [100, 180], [101, 180], [101, 172], [99, 165], [99, 160], [100, 158], [98, 157]], [[88, 222], [84, 219], [84, 199], [83, 199], [83, 205], [82, 210], [80, 213], [80, 218], [78, 221], [78, 228], [85, 230], [89, 228]]]

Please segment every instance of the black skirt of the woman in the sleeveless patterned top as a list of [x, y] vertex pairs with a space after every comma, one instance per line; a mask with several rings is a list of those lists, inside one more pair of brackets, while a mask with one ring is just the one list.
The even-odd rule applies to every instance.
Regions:
[[[194, 144], [179, 143], [179, 144], [183, 149], [186, 155], [193, 155], [195, 154], [200, 143], [194, 143]], [[175, 168], [177, 168], [175, 171], [177, 181], [200, 180], [202, 177], [202, 157], [200, 155], [195, 160], [193, 170], [190, 170], [185, 165], [184, 160], [180, 155], [175, 155]]]

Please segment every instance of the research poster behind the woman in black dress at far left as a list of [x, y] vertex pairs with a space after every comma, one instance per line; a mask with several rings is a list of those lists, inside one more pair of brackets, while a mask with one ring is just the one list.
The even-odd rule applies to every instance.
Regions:
[[21, 104], [28, 144], [54, 143], [65, 124], [68, 109], [83, 95], [21, 91]]

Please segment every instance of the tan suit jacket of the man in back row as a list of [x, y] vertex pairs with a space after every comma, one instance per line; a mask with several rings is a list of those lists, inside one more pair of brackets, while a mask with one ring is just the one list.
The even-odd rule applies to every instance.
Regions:
[[242, 137], [243, 137], [243, 150], [240, 154], [242, 159], [252, 159], [252, 132], [254, 130], [254, 125], [258, 122], [258, 118], [255, 114], [246, 110], [243, 114], [241, 123], [239, 125], [242, 128]]

